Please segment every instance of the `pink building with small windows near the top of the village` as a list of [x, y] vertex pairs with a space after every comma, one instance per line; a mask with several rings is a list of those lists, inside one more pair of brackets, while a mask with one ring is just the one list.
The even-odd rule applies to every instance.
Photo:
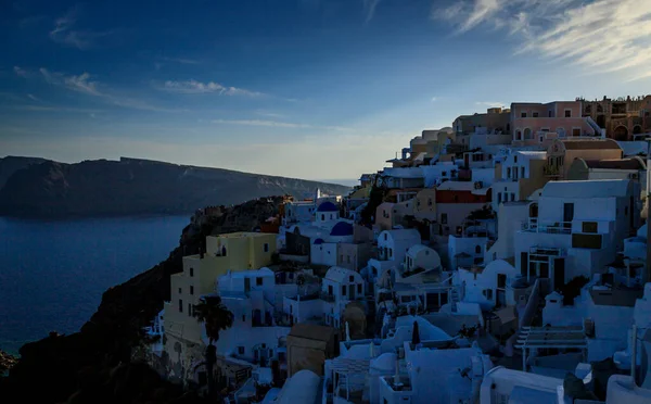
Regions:
[[513, 143], [534, 146], [552, 138], [601, 136], [599, 126], [583, 117], [582, 111], [582, 101], [514, 102], [511, 104]]

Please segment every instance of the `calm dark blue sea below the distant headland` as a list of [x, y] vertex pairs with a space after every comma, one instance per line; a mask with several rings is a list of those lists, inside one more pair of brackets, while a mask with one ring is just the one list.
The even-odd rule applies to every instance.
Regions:
[[0, 349], [77, 331], [102, 293], [167, 258], [188, 216], [72, 222], [0, 217]]

